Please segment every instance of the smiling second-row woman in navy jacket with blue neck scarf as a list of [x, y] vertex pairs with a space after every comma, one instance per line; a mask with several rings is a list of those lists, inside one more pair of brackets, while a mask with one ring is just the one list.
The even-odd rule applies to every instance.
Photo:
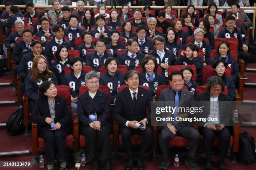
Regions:
[[149, 87], [151, 95], [156, 99], [156, 90], [159, 85], [164, 84], [164, 78], [157, 73], [157, 61], [152, 55], [147, 55], [141, 62], [142, 73], [140, 75], [139, 85]]

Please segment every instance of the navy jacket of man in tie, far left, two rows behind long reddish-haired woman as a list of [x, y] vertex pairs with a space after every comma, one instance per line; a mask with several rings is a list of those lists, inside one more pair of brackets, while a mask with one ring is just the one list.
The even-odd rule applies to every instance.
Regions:
[[31, 49], [28, 50], [28, 47], [26, 47], [26, 43], [23, 40], [20, 40], [14, 45], [11, 58], [12, 60], [15, 60], [19, 64], [22, 56], [30, 52], [31, 52]]

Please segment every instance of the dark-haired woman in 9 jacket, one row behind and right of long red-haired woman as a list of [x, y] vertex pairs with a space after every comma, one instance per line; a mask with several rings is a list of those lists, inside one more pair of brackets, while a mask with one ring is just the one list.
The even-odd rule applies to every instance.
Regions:
[[65, 45], [60, 45], [55, 53], [55, 56], [56, 60], [52, 63], [52, 66], [59, 70], [60, 79], [62, 81], [64, 78], [64, 70], [66, 67], [69, 67], [70, 64], [67, 47]]

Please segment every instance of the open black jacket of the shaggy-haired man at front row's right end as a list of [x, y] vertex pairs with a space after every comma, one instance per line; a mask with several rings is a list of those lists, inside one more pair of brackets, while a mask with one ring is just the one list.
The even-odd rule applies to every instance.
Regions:
[[[198, 114], [198, 117], [208, 117], [210, 114], [210, 93], [204, 92], [197, 95], [197, 101], [199, 105], [204, 105], [202, 115]], [[200, 102], [204, 101], [204, 102]], [[205, 101], [209, 101], [205, 103]], [[225, 102], [224, 102], [225, 101]], [[232, 120], [232, 105], [230, 105], [230, 97], [220, 93], [218, 97], [219, 102], [219, 116], [220, 123], [224, 125], [233, 125]], [[200, 122], [200, 125], [204, 125], [206, 122]]]

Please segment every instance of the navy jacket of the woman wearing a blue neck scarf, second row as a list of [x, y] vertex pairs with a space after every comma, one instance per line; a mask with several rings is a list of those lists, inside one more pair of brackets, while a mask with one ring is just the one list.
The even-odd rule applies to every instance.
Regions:
[[155, 78], [152, 82], [149, 82], [146, 79], [146, 72], [143, 72], [140, 74], [140, 83], [139, 85], [147, 86], [149, 87], [149, 90], [151, 92], [152, 97], [156, 98], [156, 90], [159, 85], [165, 85], [164, 78], [161, 74], [154, 72]]

